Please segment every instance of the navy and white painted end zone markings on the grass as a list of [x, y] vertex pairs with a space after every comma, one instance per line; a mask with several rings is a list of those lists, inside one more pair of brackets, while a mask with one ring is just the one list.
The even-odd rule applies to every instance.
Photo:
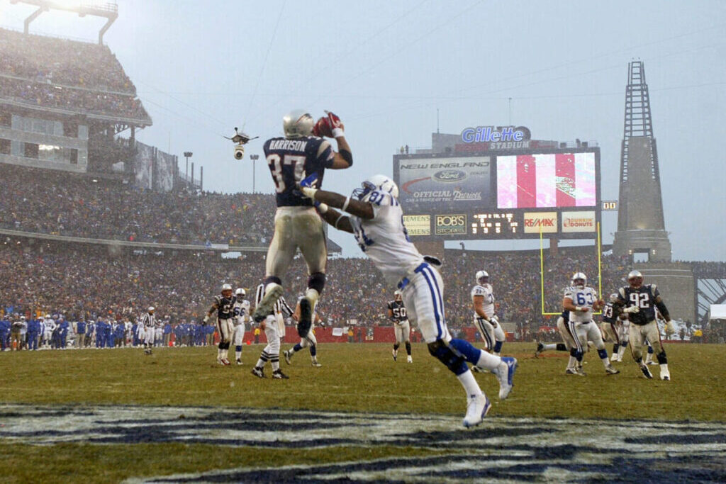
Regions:
[[[0, 443], [188, 443], [312, 449], [401, 447], [401, 457], [318, 466], [219, 469], [145, 482], [403, 480], [726, 480], [726, 424], [487, 418], [280, 409], [0, 406]], [[407, 458], [405, 448], [436, 450]], [[443, 453], [443, 454], [442, 454]], [[365, 455], [365, 452], [361, 452]]]

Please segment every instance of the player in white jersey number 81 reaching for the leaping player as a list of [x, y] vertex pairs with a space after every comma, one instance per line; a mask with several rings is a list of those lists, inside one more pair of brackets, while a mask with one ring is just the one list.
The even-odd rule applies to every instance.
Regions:
[[362, 188], [354, 190], [351, 197], [346, 197], [316, 189], [316, 182], [312, 177], [303, 180], [303, 195], [320, 202], [317, 210], [327, 223], [354, 234], [386, 282], [401, 290], [409, 319], [418, 325], [429, 353], [454, 373], [464, 387], [464, 427], [481, 423], [492, 403], [481, 391], [467, 362], [497, 375], [499, 399], [504, 400], [512, 390], [517, 361], [478, 350], [449, 334], [444, 318], [444, 283], [437, 269], [441, 262], [421, 255], [409, 239], [398, 186], [388, 176], [375, 175], [364, 181]]

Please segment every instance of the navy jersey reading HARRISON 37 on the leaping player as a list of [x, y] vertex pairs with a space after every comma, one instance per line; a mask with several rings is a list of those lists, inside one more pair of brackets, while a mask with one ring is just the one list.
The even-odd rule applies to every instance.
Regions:
[[278, 207], [313, 205], [295, 185], [313, 173], [318, 174], [317, 188], [322, 186], [325, 168], [333, 166], [335, 152], [330, 143], [317, 136], [287, 139], [272, 138], [264, 144], [265, 159], [272, 173]]

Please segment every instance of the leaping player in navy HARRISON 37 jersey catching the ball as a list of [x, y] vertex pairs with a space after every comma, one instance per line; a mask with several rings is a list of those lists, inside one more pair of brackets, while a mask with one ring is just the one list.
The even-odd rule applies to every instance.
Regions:
[[[327, 247], [313, 203], [301, 196], [296, 185], [307, 176], [315, 175], [320, 186], [325, 168], [348, 168], [353, 164], [353, 155], [343, 133], [343, 123], [332, 112], [315, 123], [307, 112], [293, 110], [282, 118], [282, 130], [284, 137], [269, 139], [264, 144], [265, 159], [277, 192], [277, 212], [265, 263], [265, 298], [256, 305], [253, 317], [260, 322], [272, 314], [275, 301], [282, 295], [282, 276], [299, 247], [309, 274], [298, 321], [298, 334], [306, 337], [315, 305], [325, 287]], [[320, 136], [335, 138], [338, 152]]]

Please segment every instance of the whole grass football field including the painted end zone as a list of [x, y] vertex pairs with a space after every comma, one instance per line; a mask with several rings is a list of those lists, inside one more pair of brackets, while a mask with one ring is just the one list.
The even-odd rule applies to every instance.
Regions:
[[[726, 480], [726, 348], [666, 345], [672, 381], [645, 380], [626, 358], [587, 377], [566, 353], [519, 360], [515, 387], [465, 430], [456, 378], [413, 345], [319, 345], [282, 361], [290, 380], [218, 366], [216, 348], [1, 353], [1, 480], [270, 482], [287, 480]], [[401, 358], [401, 354], [404, 355]], [[658, 377], [657, 366], [651, 367]]]

